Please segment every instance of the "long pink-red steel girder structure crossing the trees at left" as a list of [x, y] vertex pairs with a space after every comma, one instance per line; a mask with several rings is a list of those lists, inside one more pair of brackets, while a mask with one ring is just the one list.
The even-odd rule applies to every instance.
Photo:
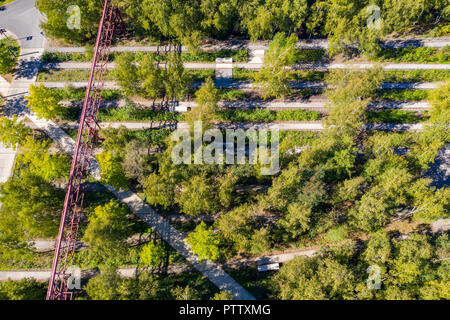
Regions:
[[90, 162], [93, 159], [92, 147], [97, 138], [99, 128], [97, 113], [101, 101], [111, 40], [114, 34], [116, 14], [117, 9], [110, 4], [110, 0], [105, 0], [78, 127], [77, 142], [73, 153], [64, 208], [56, 239], [47, 300], [72, 299], [73, 292], [68, 287], [68, 281], [71, 277], [69, 268], [73, 263], [82, 215], [85, 189], [83, 181], [89, 174]]

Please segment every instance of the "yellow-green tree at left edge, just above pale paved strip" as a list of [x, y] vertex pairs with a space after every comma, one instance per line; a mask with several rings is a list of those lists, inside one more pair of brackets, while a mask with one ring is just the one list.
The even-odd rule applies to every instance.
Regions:
[[30, 132], [22, 120], [17, 121], [17, 116], [12, 119], [0, 118], [0, 142], [7, 148], [16, 150], [17, 145], [24, 143]]

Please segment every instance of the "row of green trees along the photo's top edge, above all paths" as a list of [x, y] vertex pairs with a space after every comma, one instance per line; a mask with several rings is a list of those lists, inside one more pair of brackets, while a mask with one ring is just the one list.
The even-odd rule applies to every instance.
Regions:
[[[73, 13], [63, 9], [67, 7], [64, 1], [37, 1], [37, 7], [48, 19], [43, 23], [46, 34], [69, 42], [94, 39], [102, 4], [92, 0], [76, 0], [72, 4], [81, 9], [80, 29], [67, 28], [66, 22]], [[277, 32], [285, 32], [301, 37], [328, 36], [332, 54], [354, 45], [374, 53], [379, 50], [377, 39], [384, 34], [450, 18], [445, 0], [127, 0], [118, 5], [127, 28], [138, 36], [175, 40], [195, 47], [204, 37], [242, 34], [257, 40], [272, 39]]]

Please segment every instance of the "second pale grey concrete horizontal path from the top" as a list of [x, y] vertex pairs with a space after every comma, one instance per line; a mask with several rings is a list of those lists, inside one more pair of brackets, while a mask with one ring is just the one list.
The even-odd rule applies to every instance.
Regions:
[[[159, 67], [164, 67], [163, 64], [159, 64]], [[257, 70], [262, 66], [261, 62], [233, 62], [233, 67], [242, 69]], [[299, 63], [294, 64], [289, 69], [294, 70], [318, 70], [327, 71], [330, 69], [360, 69], [367, 70], [377, 66], [375, 63]], [[47, 62], [42, 64], [43, 68], [47, 69], [89, 69], [91, 67], [90, 62]], [[215, 63], [203, 63], [203, 62], [185, 62], [183, 63], [185, 69], [215, 69]], [[116, 64], [110, 62], [107, 64], [108, 69], [115, 69]], [[450, 64], [437, 64], [437, 63], [385, 63], [381, 65], [383, 70], [450, 70]]]

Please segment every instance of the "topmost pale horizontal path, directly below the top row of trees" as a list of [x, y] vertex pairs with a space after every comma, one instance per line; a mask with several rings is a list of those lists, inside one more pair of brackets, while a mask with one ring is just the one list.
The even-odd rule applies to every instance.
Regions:
[[[328, 40], [326, 39], [313, 39], [313, 40], [300, 40], [298, 41], [296, 47], [298, 49], [327, 49]], [[397, 39], [385, 41], [382, 45], [386, 48], [405, 48], [405, 47], [432, 47], [432, 48], [443, 48], [450, 45], [450, 37], [440, 37], [440, 38], [424, 38], [424, 39]], [[201, 48], [208, 51], [218, 51], [222, 49], [229, 50], [239, 50], [239, 49], [250, 49], [250, 50], [267, 50], [269, 47], [268, 41], [258, 41], [250, 42], [248, 40], [232, 40], [232, 41], [210, 41], [209, 44], [203, 45]], [[53, 47], [48, 48], [50, 52], [84, 52], [83, 47]], [[126, 47], [118, 46], [111, 48], [113, 52], [158, 52], [164, 51], [163, 46], [140, 46], [140, 47]], [[186, 52], [186, 47], [182, 47], [181, 50]]]

